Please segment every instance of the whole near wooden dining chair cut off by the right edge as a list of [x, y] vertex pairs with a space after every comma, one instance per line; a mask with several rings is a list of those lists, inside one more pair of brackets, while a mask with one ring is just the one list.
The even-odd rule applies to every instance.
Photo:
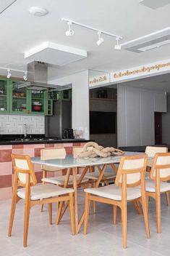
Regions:
[[146, 195], [156, 201], [157, 232], [161, 233], [161, 193], [170, 192], [170, 153], [156, 153], [150, 179], [145, 180]]

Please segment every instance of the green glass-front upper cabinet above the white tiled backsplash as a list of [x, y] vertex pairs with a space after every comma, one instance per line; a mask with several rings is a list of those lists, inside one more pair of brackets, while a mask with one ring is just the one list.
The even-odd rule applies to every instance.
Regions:
[[28, 89], [18, 87], [17, 81], [0, 78], [0, 113], [52, 116], [54, 100], [72, 99], [72, 89]]

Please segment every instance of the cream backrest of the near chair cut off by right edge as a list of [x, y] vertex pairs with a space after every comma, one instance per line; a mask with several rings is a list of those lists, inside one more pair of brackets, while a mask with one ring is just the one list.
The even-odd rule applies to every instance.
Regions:
[[150, 178], [156, 180], [156, 175], [162, 181], [170, 180], [170, 153], [156, 153]]

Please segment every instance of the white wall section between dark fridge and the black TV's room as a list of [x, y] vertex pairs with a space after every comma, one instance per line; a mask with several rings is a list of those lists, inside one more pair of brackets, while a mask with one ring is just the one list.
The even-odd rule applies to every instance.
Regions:
[[72, 128], [82, 129], [86, 140], [89, 139], [89, 88], [88, 70], [65, 76], [61, 79], [50, 79], [48, 83], [72, 84]]

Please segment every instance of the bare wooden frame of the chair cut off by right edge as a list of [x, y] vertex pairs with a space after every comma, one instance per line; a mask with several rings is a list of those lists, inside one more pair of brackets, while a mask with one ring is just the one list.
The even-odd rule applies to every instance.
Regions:
[[[157, 220], [157, 232], [161, 233], [161, 193], [166, 193], [166, 201], [169, 202], [169, 192], [161, 192], [160, 191], [160, 182], [170, 180], [170, 175], [167, 177], [160, 177], [160, 170], [170, 168], [170, 164], [162, 164], [157, 165], [158, 156], [170, 156], [170, 153], [156, 153], [154, 160], [153, 160], [153, 167], [150, 171], [150, 178], [155, 181], [155, 192], [148, 192], [146, 191], [146, 195], [152, 197], [156, 201], [156, 220]], [[154, 172], [156, 175], [154, 176]]]

